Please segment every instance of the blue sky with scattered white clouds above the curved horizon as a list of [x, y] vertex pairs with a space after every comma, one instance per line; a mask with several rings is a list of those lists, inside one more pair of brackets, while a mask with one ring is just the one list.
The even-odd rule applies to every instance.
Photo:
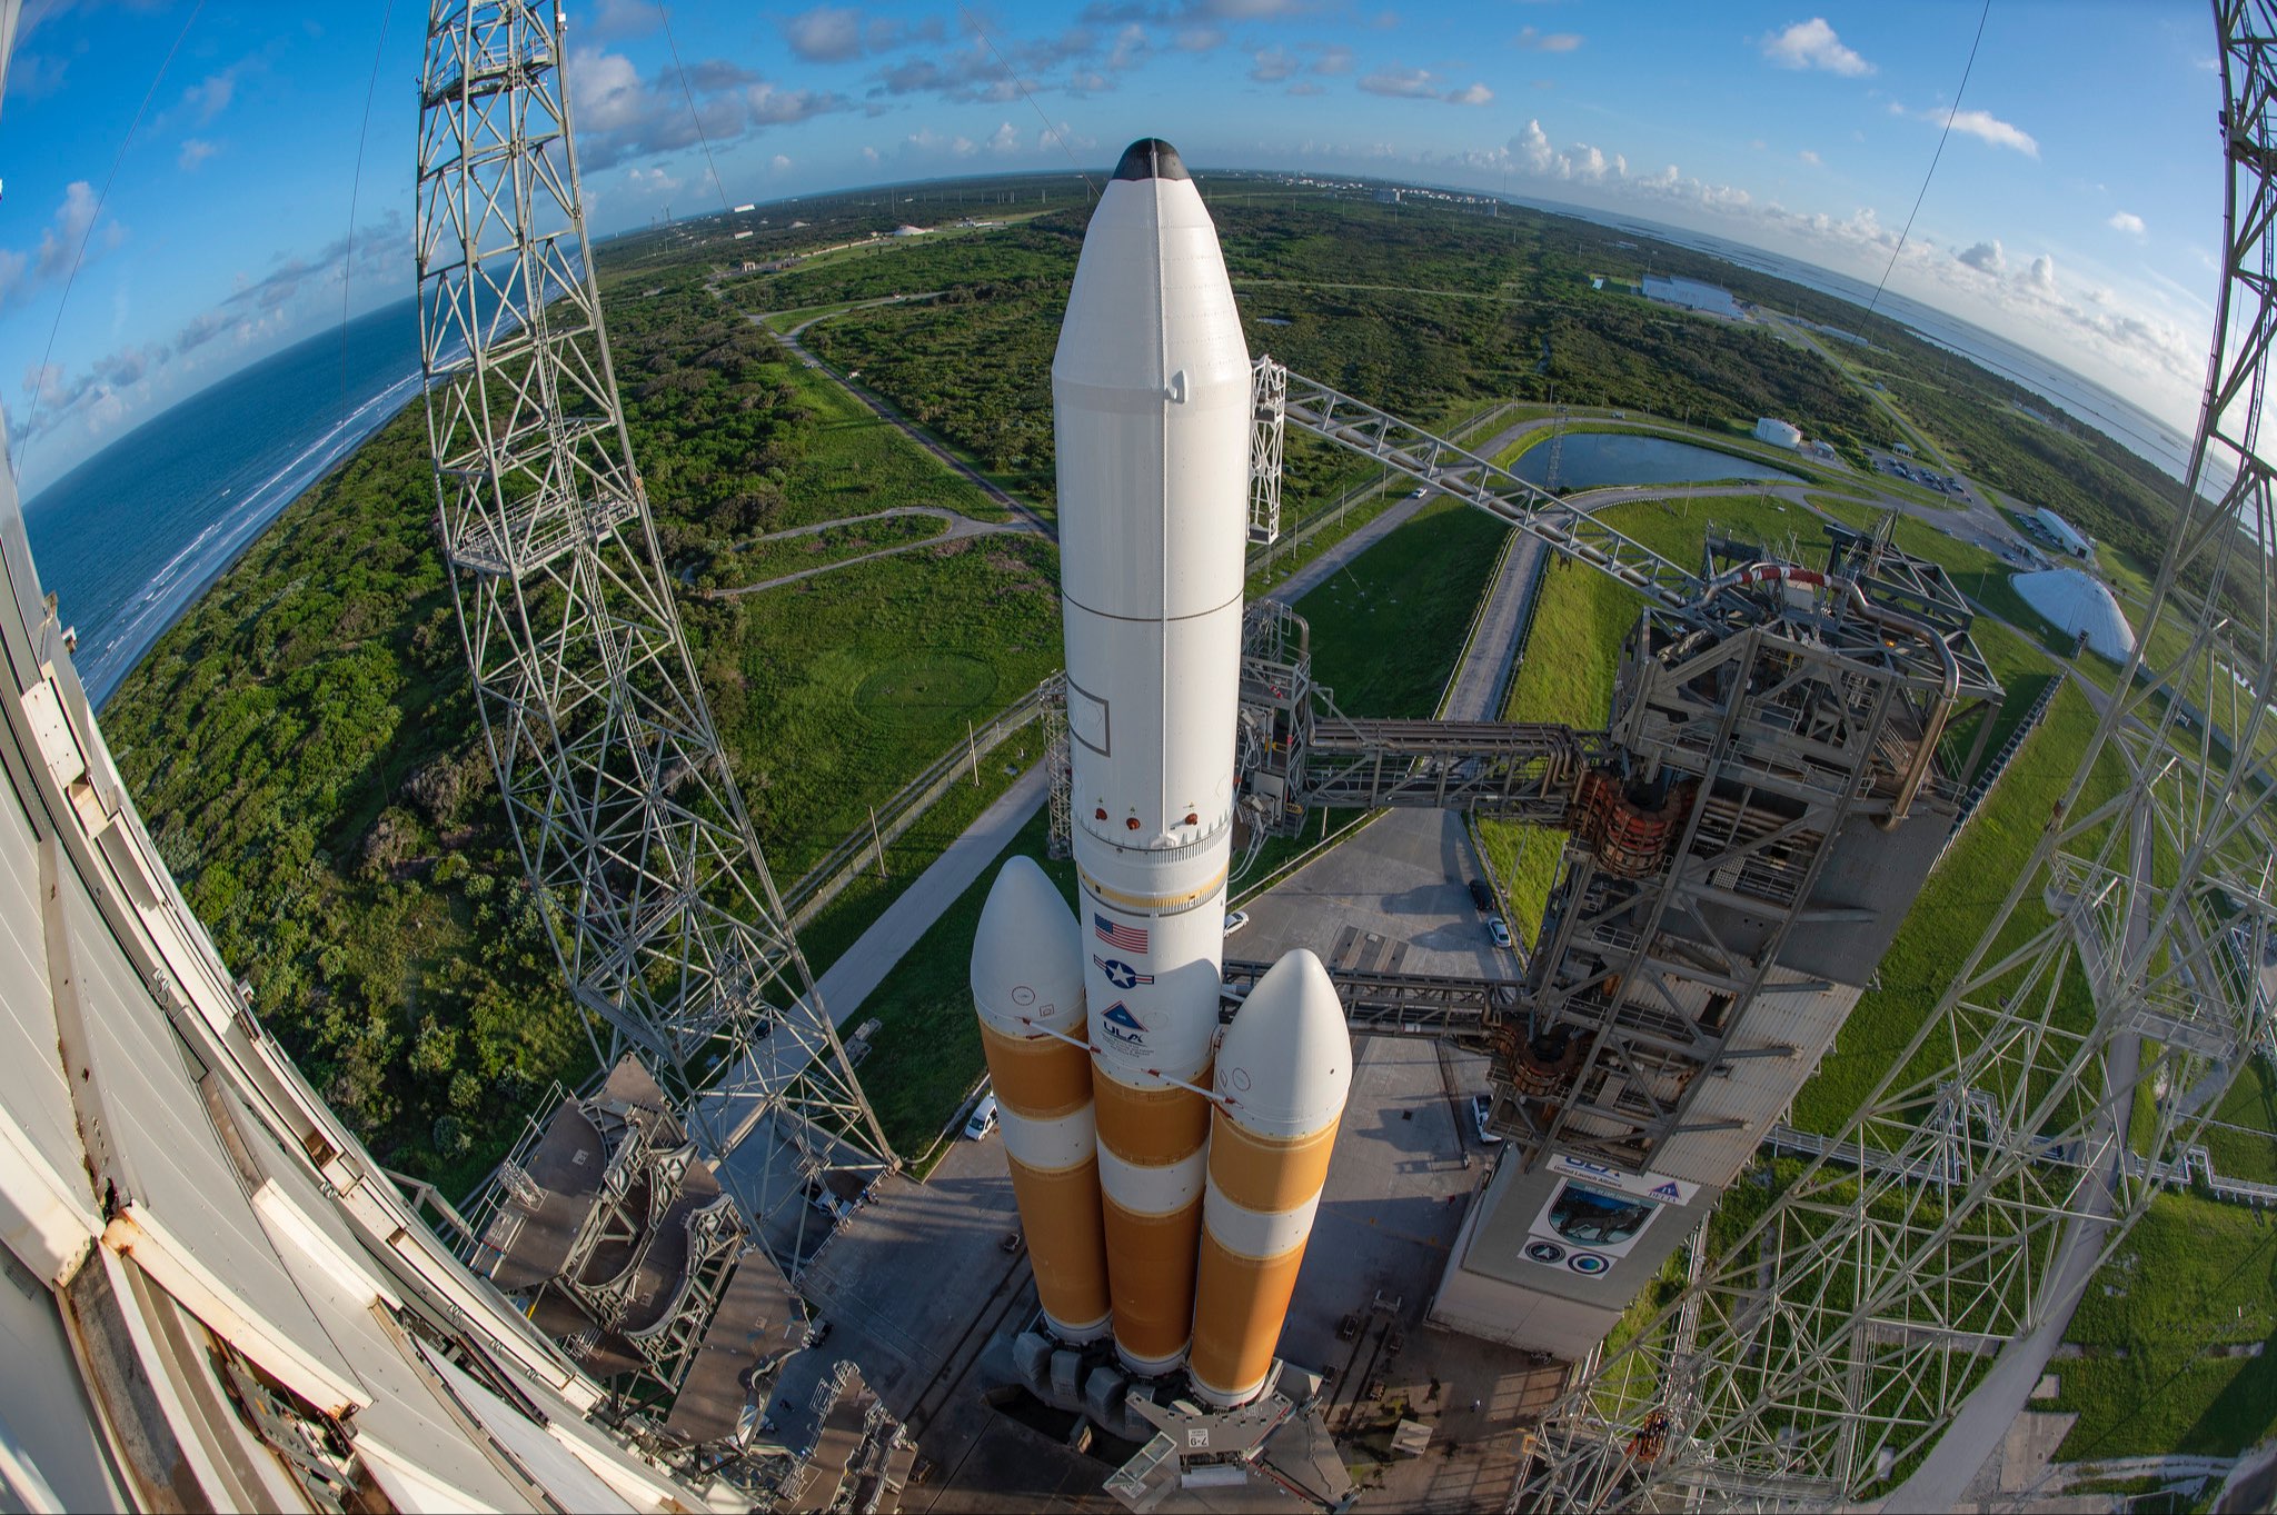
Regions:
[[[1166, 136], [1205, 173], [1471, 187], [1888, 271], [2195, 423], [2222, 205], [2202, 0], [567, 9], [597, 234], [667, 205], [1095, 173]], [[412, 293], [424, 11], [25, 0], [0, 98], [0, 405], [27, 491]]]

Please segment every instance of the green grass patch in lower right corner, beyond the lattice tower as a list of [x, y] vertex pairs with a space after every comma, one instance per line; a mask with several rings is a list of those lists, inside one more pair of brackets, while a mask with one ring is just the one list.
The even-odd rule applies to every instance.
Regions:
[[2190, 1194], [2152, 1201], [2072, 1315], [2061, 1460], [2236, 1456], [2277, 1431], [2277, 1226]]

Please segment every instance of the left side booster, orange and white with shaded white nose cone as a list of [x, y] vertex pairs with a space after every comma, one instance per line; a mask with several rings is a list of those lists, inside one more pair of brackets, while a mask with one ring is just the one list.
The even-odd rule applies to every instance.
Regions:
[[1029, 858], [1006, 862], [972, 937], [972, 1008], [1036, 1294], [1070, 1344], [1109, 1326], [1082, 962], [1068, 901]]

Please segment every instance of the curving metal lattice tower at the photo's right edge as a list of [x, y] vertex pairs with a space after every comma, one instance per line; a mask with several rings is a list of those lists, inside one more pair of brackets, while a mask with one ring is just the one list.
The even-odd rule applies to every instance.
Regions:
[[[1567, 1392], [1521, 1508], [1831, 1506], [1935, 1463], [1963, 1413], [2006, 1426], [2022, 1390], [1997, 1358], [2061, 1333], [2268, 1030], [2277, 5], [2218, 0], [2216, 25], [2227, 264], [2136, 655], [2113, 687], [2081, 685], [2095, 742], [1910, 1046]], [[1897, 1488], [1892, 1508], [1929, 1492]]]

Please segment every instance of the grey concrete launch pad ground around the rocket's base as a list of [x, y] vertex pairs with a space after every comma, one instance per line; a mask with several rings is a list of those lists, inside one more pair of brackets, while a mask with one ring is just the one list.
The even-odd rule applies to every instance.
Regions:
[[[1448, 889], [1469, 912], [1462, 885]], [[1562, 1385], [1562, 1365], [1423, 1324], [1487, 1174], [1491, 1149], [1469, 1124], [1469, 1096], [1482, 1090], [1482, 1060], [1359, 1042], [1282, 1335], [1287, 1360], [1330, 1376], [1327, 1426], [1362, 1485], [1359, 1510], [1498, 1506], [1523, 1426]], [[1072, 1417], [990, 1401], [1018, 1399], [1002, 1392], [1013, 1383], [1011, 1338], [1036, 1313], [1027, 1260], [1004, 1249], [1016, 1226], [1000, 1140], [956, 1142], [927, 1183], [883, 1181], [802, 1281], [831, 1322], [827, 1349], [811, 1356], [856, 1360], [918, 1435], [920, 1476], [904, 1508], [1120, 1510], [1102, 1485], [1136, 1447], [1095, 1435], [1077, 1451], [1066, 1440]], [[1400, 1422], [1425, 1429], [1421, 1454], [1391, 1451]], [[1305, 1506], [1250, 1485], [1189, 1490], [1159, 1508]]]

